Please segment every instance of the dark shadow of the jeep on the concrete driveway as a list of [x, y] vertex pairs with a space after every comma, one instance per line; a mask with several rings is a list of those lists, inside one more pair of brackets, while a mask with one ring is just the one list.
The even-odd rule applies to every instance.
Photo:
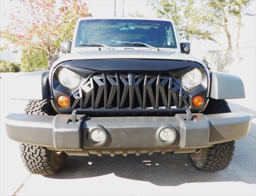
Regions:
[[[255, 125], [255, 124], [254, 124]], [[216, 172], [198, 171], [186, 154], [152, 156], [69, 156], [64, 168], [55, 175], [57, 179], [91, 178], [115, 174], [121, 178], [148, 181], [160, 186], [177, 186], [195, 182], [242, 181], [255, 184], [255, 138], [247, 136], [238, 140], [233, 161], [227, 169]]]

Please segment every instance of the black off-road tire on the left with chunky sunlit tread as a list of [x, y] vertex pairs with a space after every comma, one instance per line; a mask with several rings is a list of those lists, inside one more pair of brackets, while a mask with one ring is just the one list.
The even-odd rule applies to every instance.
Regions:
[[[30, 100], [25, 114], [56, 115], [50, 100]], [[24, 166], [32, 174], [49, 175], [57, 173], [66, 163], [68, 155], [46, 147], [20, 144], [20, 155]]]

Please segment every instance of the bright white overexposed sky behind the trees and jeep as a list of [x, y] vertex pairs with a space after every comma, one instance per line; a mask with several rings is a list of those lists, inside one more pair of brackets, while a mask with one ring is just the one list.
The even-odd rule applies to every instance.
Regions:
[[[114, 0], [83, 0], [87, 3], [89, 7], [89, 12], [92, 13], [93, 17], [114, 17], [115, 6]], [[18, 0], [0, 0], [0, 28], [3, 29], [8, 23], [8, 20], [2, 20], [4, 14], [11, 13], [11, 10], [16, 7]], [[57, 3], [61, 3], [57, 0]], [[124, 4], [123, 4], [124, 3]], [[124, 16], [129, 16], [129, 13], [142, 13], [146, 18], [156, 18], [155, 11], [151, 7], [146, 6], [147, 0], [116, 0], [116, 16], [122, 16], [122, 11], [124, 8]], [[251, 1], [249, 6], [251, 13], [256, 13], [256, 1]], [[243, 26], [240, 32], [240, 47], [255, 47], [256, 46], [256, 16], [244, 16], [242, 19]], [[229, 25], [229, 31], [231, 32], [231, 38], [233, 45], [236, 42], [236, 31], [237, 27], [231, 22]], [[220, 50], [227, 48], [227, 38], [224, 33], [220, 33], [214, 36], [216, 40], [223, 44], [223, 47], [217, 46], [214, 42], [210, 40], [188, 40], [191, 42], [191, 50], [194, 53], [205, 53], [209, 50]], [[187, 41], [187, 40], [181, 40]], [[6, 41], [0, 40], [0, 45], [2, 46]], [[10, 46], [14, 49], [14, 46]], [[8, 55], [8, 56], [7, 56]], [[11, 57], [10, 57], [11, 56]], [[0, 58], [11, 58], [15, 61], [19, 60], [20, 53], [1, 53]]]

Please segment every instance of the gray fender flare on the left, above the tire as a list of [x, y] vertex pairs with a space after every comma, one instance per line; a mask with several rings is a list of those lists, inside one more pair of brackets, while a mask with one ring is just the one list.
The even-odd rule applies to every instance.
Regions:
[[50, 98], [49, 70], [21, 74], [12, 80], [11, 99], [43, 100]]

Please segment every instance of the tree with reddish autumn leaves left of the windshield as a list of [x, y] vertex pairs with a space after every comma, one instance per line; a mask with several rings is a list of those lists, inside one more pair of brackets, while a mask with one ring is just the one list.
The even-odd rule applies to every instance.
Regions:
[[8, 16], [9, 25], [0, 31], [1, 38], [41, 51], [48, 62], [59, 52], [60, 42], [72, 39], [77, 19], [91, 16], [81, 0], [20, 0], [14, 11]]

